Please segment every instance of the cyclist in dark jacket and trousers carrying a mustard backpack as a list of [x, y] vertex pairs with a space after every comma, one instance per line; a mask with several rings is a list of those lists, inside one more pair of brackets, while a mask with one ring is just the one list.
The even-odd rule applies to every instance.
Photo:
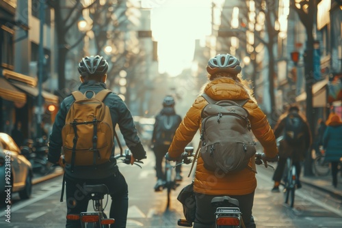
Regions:
[[[81, 85], [79, 91], [85, 93], [86, 91], [94, 91], [96, 94], [106, 89], [106, 79], [108, 63], [103, 57], [98, 55], [84, 57], [78, 66], [79, 74], [81, 74]], [[92, 93], [89, 93], [92, 96]], [[49, 138], [49, 154], [48, 160], [52, 163], [60, 161], [62, 149], [62, 128], [65, 124], [66, 114], [74, 102], [73, 96], [66, 97], [55, 117], [53, 130]], [[127, 108], [122, 99], [114, 94], [108, 94], [103, 102], [109, 107], [111, 113], [111, 120], [113, 129], [118, 124], [120, 132], [124, 137], [127, 147], [133, 154], [131, 164], [135, 159], [141, 160], [146, 158], [146, 152], [140, 138], [137, 136], [137, 130], [133, 123], [131, 112]], [[114, 147], [112, 155], [114, 155]], [[86, 212], [88, 209], [88, 199], [81, 194], [81, 186], [83, 184], [105, 184], [109, 189], [111, 195], [111, 208], [109, 212], [110, 218], [115, 218], [115, 223], [111, 227], [126, 227], [127, 211], [128, 211], [128, 187], [124, 176], [120, 173], [116, 160], [106, 162], [94, 167], [78, 166], [73, 171], [70, 165], [66, 164], [65, 168], [66, 181], [66, 206], [67, 214], [79, 214]], [[66, 222], [66, 227], [80, 227], [79, 221]]]

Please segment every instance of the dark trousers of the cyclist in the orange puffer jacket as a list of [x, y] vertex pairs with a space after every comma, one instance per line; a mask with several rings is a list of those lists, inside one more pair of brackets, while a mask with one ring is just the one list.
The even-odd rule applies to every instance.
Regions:
[[[216, 208], [211, 207], [211, 199], [217, 197], [215, 195], [204, 195], [196, 193], [196, 218], [194, 228], [211, 228], [215, 227], [215, 211]], [[252, 217], [252, 208], [254, 201], [254, 192], [248, 195], [230, 195], [239, 201], [239, 208], [242, 212], [242, 219], [248, 228], [256, 227]]]

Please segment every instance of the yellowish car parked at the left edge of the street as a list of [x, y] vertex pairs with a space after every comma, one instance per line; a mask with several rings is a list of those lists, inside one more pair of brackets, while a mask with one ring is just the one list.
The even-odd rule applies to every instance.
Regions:
[[[8, 193], [19, 193], [21, 199], [28, 199], [32, 192], [32, 176], [29, 160], [23, 156], [10, 135], [0, 132], [0, 195], [8, 199]], [[8, 188], [10, 191], [5, 192]]]

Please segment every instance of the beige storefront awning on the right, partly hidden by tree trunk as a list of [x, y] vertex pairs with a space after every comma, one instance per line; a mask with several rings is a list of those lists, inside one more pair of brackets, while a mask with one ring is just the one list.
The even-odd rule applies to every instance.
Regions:
[[[313, 85], [313, 107], [326, 107], [326, 85], [328, 84], [328, 79], [319, 81]], [[306, 100], [306, 92], [300, 94], [295, 98], [296, 102], [302, 102]]]

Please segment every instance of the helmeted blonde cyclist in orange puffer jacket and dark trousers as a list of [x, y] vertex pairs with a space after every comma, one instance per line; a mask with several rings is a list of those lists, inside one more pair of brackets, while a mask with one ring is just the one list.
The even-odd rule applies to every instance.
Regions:
[[[249, 120], [254, 136], [263, 146], [265, 160], [278, 157], [276, 139], [273, 130], [269, 126], [267, 117], [259, 108], [248, 87], [248, 81], [241, 79], [241, 66], [239, 60], [229, 54], [216, 55], [208, 61], [207, 72], [209, 82], [202, 88], [213, 100], [245, 100], [249, 99], [244, 108], [249, 113]], [[202, 92], [203, 92], [202, 91]], [[202, 92], [200, 94], [202, 94]], [[170, 145], [168, 156], [179, 157], [186, 145], [192, 141], [200, 128], [201, 111], [208, 102], [202, 96], [198, 96], [190, 109]], [[249, 166], [255, 169], [254, 159], [250, 160]], [[246, 227], [255, 227], [252, 218], [252, 206], [254, 190], [257, 188], [257, 179], [254, 171], [244, 169], [234, 174], [224, 176], [215, 175], [203, 166], [202, 158], [198, 158], [194, 192], [196, 193], [196, 219], [194, 227], [211, 227], [215, 223], [215, 209], [211, 208], [211, 199], [216, 196], [228, 195], [239, 200], [240, 210]]]

